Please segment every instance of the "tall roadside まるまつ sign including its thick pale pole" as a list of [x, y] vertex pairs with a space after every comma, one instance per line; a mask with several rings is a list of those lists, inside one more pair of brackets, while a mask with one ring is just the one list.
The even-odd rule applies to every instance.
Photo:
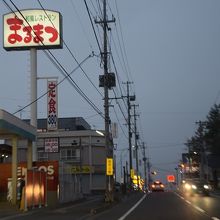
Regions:
[[[52, 20], [51, 20], [52, 19]], [[37, 129], [37, 49], [62, 48], [62, 16], [51, 10], [19, 10], [3, 15], [3, 47], [6, 51], [30, 50], [31, 115]], [[31, 146], [31, 145], [30, 145]], [[28, 168], [37, 160], [36, 142], [28, 147]], [[32, 151], [32, 152], [31, 152]], [[16, 152], [13, 154], [17, 157]], [[17, 164], [13, 163], [16, 169]], [[15, 172], [13, 169], [12, 172]], [[13, 175], [12, 175], [13, 176]], [[17, 177], [15, 175], [16, 185]], [[16, 193], [15, 193], [16, 194]], [[15, 196], [14, 196], [15, 197]], [[16, 199], [14, 198], [13, 199]]]

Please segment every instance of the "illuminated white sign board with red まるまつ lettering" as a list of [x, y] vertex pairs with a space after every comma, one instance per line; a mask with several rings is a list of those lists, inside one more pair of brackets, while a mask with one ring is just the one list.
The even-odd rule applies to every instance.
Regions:
[[50, 10], [22, 10], [3, 15], [5, 50], [62, 48], [62, 17]]

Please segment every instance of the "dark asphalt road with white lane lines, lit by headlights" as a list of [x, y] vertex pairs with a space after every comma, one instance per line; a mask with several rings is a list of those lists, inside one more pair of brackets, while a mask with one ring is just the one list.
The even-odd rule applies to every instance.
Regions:
[[94, 216], [93, 220], [218, 220], [220, 198], [183, 197], [174, 192], [150, 193], [140, 203], [124, 203]]

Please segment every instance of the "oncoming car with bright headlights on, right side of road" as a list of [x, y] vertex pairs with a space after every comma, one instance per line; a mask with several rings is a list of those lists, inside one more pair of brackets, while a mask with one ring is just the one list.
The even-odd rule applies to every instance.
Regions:
[[211, 186], [207, 181], [204, 180], [189, 179], [183, 181], [182, 189], [184, 193], [190, 195], [201, 194], [208, 196], [211, 191]]

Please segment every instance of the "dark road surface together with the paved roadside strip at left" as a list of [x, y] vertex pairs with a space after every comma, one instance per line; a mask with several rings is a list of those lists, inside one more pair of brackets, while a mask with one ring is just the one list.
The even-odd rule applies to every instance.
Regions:
[[[10, 216], [9, 219], [41, 219], [41, 220], [218, 220], [220, 219], [220, 198], [182, 196], [176, 192], [154, 192], [149, 194], [133, 194], [114, 205], [104, 208], [96, 214], [91, 210], [101, 205], [100, 199], [60, 207], [42, 209]], [[99, 211], [99, 210], [98, 210]]]

